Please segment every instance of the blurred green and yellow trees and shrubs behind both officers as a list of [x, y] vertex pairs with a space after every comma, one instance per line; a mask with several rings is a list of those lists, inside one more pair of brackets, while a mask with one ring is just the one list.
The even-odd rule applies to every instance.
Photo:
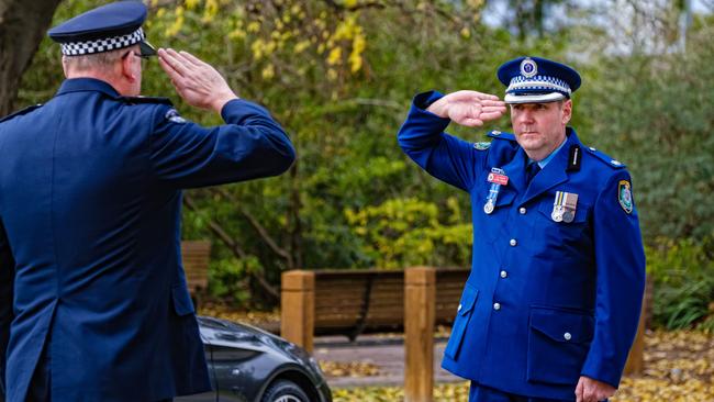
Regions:
[[[107, 1], [65, 0], [53, 24]], [[425, 175], [397, 145], [424, 90], [503, 93], [498, 66], [522, 55], [574, 66], [572, 125], [624, 161], [656, 281], [655, 323], [714, 330], [714, 4], [688, 0], [150, 0], [160, 47], [214, 65], [269, 108], [298, 149], [279, 178], [186, 193], [183, 237], [214, 244], [210, 292], [275, 305], [293, 268], [468, 266], [465, 193]], [[45, 38], [15, 109], [52, 97], [59, 48]], [[143, 93], [169, 97], [156, 60]], [[482, 130], [449, 127], [469, 141]], [[478, 234], [477, 234], [478, 235]]]

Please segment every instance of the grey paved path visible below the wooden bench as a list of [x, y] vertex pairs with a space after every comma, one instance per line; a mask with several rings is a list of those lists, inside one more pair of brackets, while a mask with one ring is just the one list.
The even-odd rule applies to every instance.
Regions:
[[[457, 382], [462, 379], [440, 368], [446, 339], [435, 339], [434, 373], [436, 382]], [[345, 337], [317, 337], [313, 356], [325, 361], [360, 361], [379, 368], [378, 376], [327, 377], [331, 388], [404, 384], [404, 344], [401, 338], [364, 335], [350, 343]]]

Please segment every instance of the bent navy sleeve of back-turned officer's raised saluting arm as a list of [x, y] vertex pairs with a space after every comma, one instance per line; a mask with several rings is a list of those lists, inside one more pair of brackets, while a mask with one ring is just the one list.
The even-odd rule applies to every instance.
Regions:
[[159, 181], [194, 188], [277, 176], [295, 158], [290, 138], [261, 107], [232, 100], [226, 124], [202, 127], [163, 105], [154, 116], [150, 159]]

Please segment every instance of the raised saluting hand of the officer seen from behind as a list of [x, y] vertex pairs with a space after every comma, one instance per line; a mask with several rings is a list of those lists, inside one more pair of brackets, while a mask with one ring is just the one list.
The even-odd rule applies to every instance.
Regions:
[[237, 98], [215, 68], [188, 52], [159, 48], [158, 62], [178, 94], [192, 107], [221, 113], [226, 102]]

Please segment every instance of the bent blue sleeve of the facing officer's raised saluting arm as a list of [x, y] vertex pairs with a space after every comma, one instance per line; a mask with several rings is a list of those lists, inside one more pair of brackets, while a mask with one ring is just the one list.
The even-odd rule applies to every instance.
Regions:
[[414, 97], [397, 139], [402, 150], [429, 175], [468, 191], [488, 152], [476, 152], [473, 144], [446, 134], [444, 130], [451, 121], [425, 110], [442, 97], [436, 91]]

